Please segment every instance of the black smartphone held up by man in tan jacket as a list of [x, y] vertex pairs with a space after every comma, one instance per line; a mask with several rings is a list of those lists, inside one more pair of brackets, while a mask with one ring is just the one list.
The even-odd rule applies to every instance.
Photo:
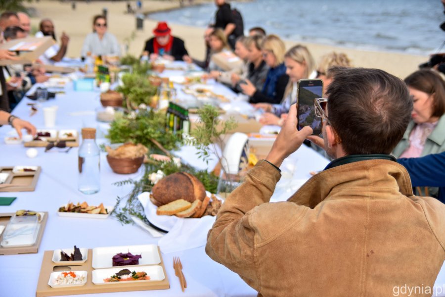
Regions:
[[321, 134], [321, 118], [315, 114], [315, 99], [323, 97], [321, 79], [301, 79], [297, 84], [297, 129], [310, 126], [312, 135]]

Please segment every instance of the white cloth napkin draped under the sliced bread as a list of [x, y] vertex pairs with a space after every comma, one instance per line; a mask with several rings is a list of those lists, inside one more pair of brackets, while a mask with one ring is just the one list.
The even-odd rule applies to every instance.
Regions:
[[207, 215], [199, 219], [192, 219], [157, 215], [157, 207], [151, 203], [149, 193], [141, 193], [138, 198], [144, 207], [147, 219], [153, 225], [169, 231], [158, 241], [158, 246], [163, 253], [202, 247], [207, 243], [207, 233], [215, 223], [214, 216]]

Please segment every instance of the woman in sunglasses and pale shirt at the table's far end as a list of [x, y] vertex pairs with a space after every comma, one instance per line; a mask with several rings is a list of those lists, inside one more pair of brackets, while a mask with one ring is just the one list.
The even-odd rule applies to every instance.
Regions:
[[121, 55], [121, 47], [116, 37], [107, 32], [107, 19], [103, 15], [93, 18], [93, 33], [89, 33], [85, 38], [81, 56], [86, 57], [88, 52], [93, 56]]

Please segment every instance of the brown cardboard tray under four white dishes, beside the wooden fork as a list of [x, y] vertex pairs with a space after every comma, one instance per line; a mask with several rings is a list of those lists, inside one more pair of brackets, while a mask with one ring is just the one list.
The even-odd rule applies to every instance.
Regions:
[[[42, 260], [42, 267], [40, 269], [39, 282], [37, 283], [36, 297], [46, 296], [61, 296], [61, 295], [80, 295], [80, 294], [95, 294], [95, 293], [113, 293], [113, 292], [129, 292], [129, 291], [146, 291], [146, 290], [165, 290], [170, 289], [170, 283], [165, 270], [164, 260], [162, 259], [161, 250], [158, 247], [159, 257], [164, 270], [165, 279], [159, 282], [130, 282], [119, 285], [95, 285], [92, 283], [92, 249], [88, 249], [88, 259], [85, 263], [80, 265], [55, 264], [52, 262], [53, 250], [45, 250]], [[124, 269], [125, 267], [122, 267]], [[137, 266], [132, 266], [130, 270], [137, 270]], [[71, 288], [51, 288], [48, 285], [49, 275], [54, 271], [87, 271], [87, 283], [80, 287]], [[126, 296], [126, 295], [123, 295]]]

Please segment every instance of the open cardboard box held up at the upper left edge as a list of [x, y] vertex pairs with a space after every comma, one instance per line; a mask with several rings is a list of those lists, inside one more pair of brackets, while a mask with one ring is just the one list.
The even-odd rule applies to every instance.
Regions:
[[0, 45], [0, 49], [7, 49], [17, 52], [18, 60], [0, 60], [0, 66], [11, 64], [32, 64], [46, 49], [54, 45], [54, 40], [50, 36], [26, 37], [11, 40]]

